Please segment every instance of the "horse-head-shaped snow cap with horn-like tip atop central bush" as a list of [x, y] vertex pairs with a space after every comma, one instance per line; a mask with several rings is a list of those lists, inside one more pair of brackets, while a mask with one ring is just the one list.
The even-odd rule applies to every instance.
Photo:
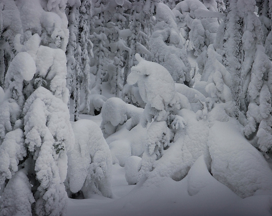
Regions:
[[169, 72], [160, 64], [146, 61], [137, 53], [137, 66], [131, 67], [128, 84], [138, 82], [142, 99], [157, 110], [164, 110], [175, 97], [175, 83]]

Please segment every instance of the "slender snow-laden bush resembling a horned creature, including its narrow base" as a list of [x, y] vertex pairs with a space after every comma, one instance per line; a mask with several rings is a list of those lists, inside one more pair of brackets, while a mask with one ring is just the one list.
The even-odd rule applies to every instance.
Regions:
[[186, 122], [177, 115], [181, 108], [180, 98], [170, 73], [160, 64], [142, 59], [139, 54], [135, 58], [139, 63], [131, 68], [127, 81], [131, 85], [138, 82], [140, 95], [147, 103], [142, 126], [152, 122], [147, 130], [147, 148], [139, 167], [141, 177], [153, 169], [154, 161], [173, 141], [174, 132], [184, 130]]

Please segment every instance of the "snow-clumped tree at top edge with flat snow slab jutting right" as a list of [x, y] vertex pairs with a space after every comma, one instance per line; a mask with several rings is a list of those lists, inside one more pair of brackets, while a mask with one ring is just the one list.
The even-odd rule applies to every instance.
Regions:
[[199, 0], [182, 1], [172, 11], [180, 33], [188, 40], [187, 51], [192, 50], [197, 57], [197, 72], [202, 74], [207, 60], [207, 48], [214, 43], [219, 27], [218, 18], [224, 17], [224, 14], [216, 12], [215, 9], [209, 11]]

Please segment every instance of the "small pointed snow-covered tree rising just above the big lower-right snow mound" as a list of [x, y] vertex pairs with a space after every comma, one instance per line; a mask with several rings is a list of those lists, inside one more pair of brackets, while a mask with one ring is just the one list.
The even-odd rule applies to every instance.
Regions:
[[232, 77], [221, 63], [222, 56], [216, 53], [212, 46], [209, 46], [207, 54], [207, 62], [200, 80], [206, 82], [205, 90], [208, 97], [201, 102], [203, 108], [197, 112], [197, 116], [209, 118], [209, 121], [228, 121], [229, 116], [234, 117], [235, 109], [230, 90]]

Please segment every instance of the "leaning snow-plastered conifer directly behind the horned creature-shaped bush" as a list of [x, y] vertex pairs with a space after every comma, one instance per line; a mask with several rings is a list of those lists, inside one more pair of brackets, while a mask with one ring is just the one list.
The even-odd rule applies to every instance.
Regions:
[[154, 61], [164, 66], [175, 82], [191, 86], [191, 65], [175, 20], [167, 5], [157, 5], [156, 25], [150, 38], [151, 53]]

